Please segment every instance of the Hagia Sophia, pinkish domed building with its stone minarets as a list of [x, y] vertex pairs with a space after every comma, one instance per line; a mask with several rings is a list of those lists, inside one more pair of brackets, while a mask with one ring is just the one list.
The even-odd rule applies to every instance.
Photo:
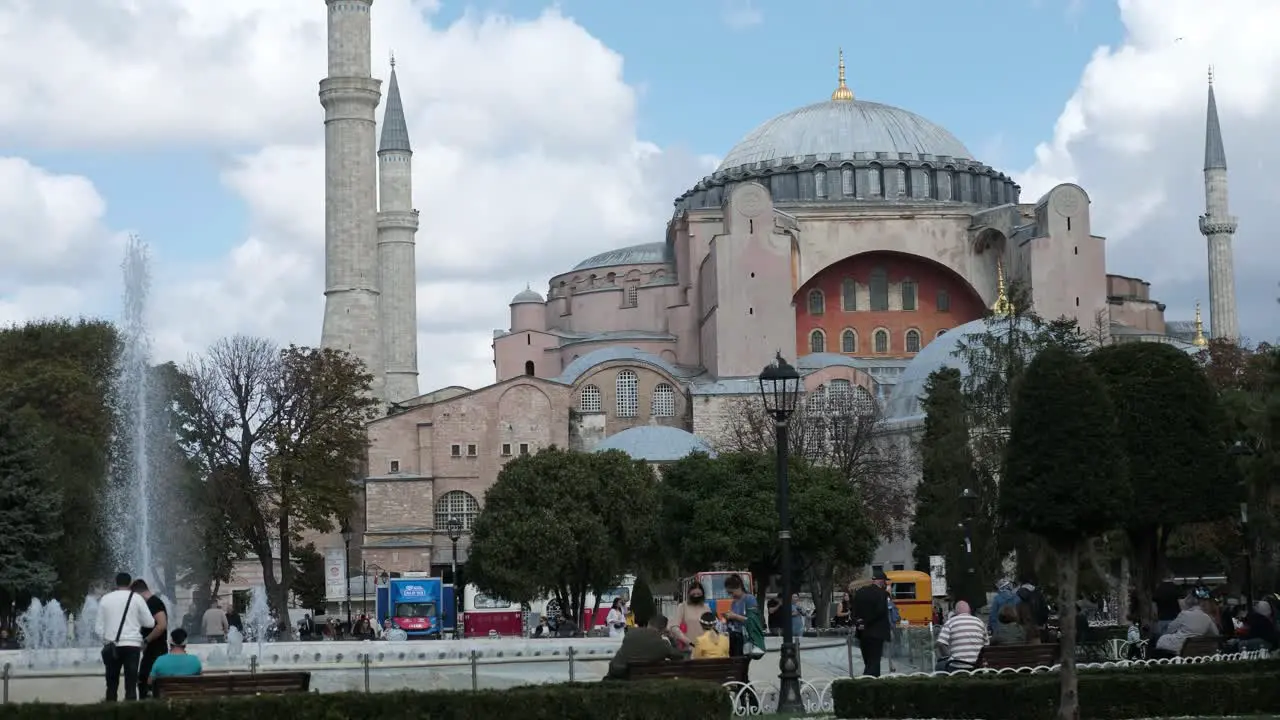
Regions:
[[[663, 462], [717, 447], [726, 409], [759, 392], [780, 348], [806, 392], [916, 425], [924, 379], [956, 364], [960, 338], [983, 331], [1006, 282], [1029, 288], [1041, 316], [1083, 328], [1102, 318], [1112, 341], [1204, 343], [1198, 309], [1194, 322], [1166, 323], [1148, 283], [1107, 273], [1084, 188], [1024, 202], [1014, 178], [946, 128], [856, 97], [841, 58], [829, 97], [765, 120], [714, 173], [691, 178], [662, 236], [517, 292], [509, 327], [494, 332], [493, 384], [421, 395], [412, 149], [394, 64], [376, 126], [371, 4], [326, 0], [320, 83], [323, 345], [361, 357], [389, 407], [370, 425], [356, 568], [447, 574], [445, 521], [470, 525], [503, 464], [526, 452], [618, 448]], [[1212, 81], [1203, 172], [1211, 334], [1234, 338], [1235, 219]], [[332, 553], [342, 539], [317, 546]], [[458, 552], [465, 561], [466, 538]], [[910, 547], [886, 543], [874, 562], [911, 569]]]

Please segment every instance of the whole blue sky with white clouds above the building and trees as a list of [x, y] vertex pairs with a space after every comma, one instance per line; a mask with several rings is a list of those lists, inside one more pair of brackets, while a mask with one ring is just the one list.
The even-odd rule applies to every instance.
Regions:
[[[1170, 319], [1207, 292], [1212, 63], [1242, 332], [1274, 341], [1276, 27], [1276, 0], [376, 0], [416, 151], [422, 389], [490, 382], [513, 293], [660, 240], [740, 137], [829, 95], [838, 46], [859, 97], [950, 128], [1024, 199], [1083, 184], [1108, 269]], [[164, 359], [316, 343], [324, 69], [321, 0], [0, 0], [0, 324], [116, 315], [137, 232]]]

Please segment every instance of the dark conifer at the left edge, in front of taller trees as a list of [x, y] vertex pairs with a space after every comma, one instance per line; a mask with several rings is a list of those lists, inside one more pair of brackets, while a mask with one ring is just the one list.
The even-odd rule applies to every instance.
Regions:
[[49, 553], [63, 534], [63, 497], [45, 482], [40, 450], [0, 405], [0, 591], [9, 597], [46, 594], [58, 579]]

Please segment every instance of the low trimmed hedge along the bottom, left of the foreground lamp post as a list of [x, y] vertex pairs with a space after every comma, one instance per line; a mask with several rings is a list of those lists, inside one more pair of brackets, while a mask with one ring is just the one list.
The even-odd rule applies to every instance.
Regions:
[[333, 693], [5, 706], [5, 720], [723, 720], [728, 693], [716, 683], [525, 685], [508, 691]]

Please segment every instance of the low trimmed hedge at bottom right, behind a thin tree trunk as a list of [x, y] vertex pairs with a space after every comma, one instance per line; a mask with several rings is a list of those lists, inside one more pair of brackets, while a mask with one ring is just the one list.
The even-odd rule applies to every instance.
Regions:
[[[1277, 670], [1280, 662], [1263, 660], [1082, 671], [1080, 714], [1089, 720], [1129, 720], [1277, 712]], [[1059, 675], [838, 680], [832, 698], [837, 717], [1053, 720]]]

